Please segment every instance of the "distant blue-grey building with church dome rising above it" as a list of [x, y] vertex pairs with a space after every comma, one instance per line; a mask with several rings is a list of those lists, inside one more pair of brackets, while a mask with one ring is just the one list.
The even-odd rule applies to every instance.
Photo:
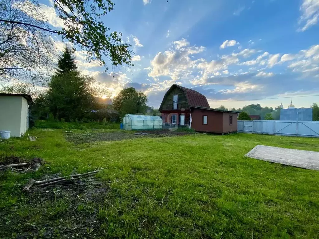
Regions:
[[303, 108], [296, 109], [293, 105], [293, 101], [290, 102], [288, 109], [280, 110], [280, 120], [297, 120], [297, 121], [311, 121], [312, 109]]

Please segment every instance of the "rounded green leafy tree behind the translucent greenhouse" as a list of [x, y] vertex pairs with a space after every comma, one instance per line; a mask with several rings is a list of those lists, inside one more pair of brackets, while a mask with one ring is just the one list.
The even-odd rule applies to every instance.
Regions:
[[133, 87], [123, 89], [113, 100], [114, 109], [121, 115], [145, 114], [146, 103], [147, 97], [144, 92], [136, 91]]

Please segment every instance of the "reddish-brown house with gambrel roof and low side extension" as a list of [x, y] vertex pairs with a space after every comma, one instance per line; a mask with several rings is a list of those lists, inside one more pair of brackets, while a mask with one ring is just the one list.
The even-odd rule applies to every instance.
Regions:
[[210, 108], [204, 95], [173, 84], [159, 107], [164, 125], [189, 127], [199, 132], [237, 131], [238, 112]]

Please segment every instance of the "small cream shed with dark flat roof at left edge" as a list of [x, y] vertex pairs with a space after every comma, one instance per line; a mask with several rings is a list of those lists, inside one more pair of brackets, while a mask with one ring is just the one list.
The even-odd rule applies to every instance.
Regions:
[[29, 128], [30, 95], [0, 94], [0, 130], [10, 130], [11, 137], [20, 137]]

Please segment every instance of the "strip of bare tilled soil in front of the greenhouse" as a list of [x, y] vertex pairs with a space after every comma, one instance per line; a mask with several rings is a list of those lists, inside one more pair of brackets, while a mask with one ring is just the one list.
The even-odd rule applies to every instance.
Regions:
[[80, 134], [65, 134], [65, 138], [68, 141], [74, 142], [75, 144], [90, 143], [95, 141], [120, 141], [126, 139], [145, 138], [145, 137], [169, 137], [189, 134], [187, 132], [176, 132], [176, 131], [136, 131], [135, 133], [147, 133], [145, 135], [135, 135], [123, 132], [113, 133], [80, 133]]

